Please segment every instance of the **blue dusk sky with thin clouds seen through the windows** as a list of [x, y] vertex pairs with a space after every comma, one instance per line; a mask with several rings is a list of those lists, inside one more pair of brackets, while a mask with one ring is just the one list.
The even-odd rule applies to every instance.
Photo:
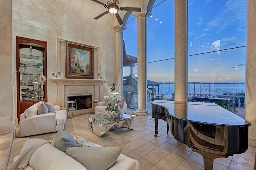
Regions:
[[[151, 12], [146, 22], [147, 79], [172, 82], [174, 1], [156, 0]], [[126, 54], [137, 57], [136, 18], [131, 15], [125, 27]], [[246, 0], [188, 0], [188, 81], [244, 82], [245, 45]], [[123, 72], [129, 75], [130, 68]]]

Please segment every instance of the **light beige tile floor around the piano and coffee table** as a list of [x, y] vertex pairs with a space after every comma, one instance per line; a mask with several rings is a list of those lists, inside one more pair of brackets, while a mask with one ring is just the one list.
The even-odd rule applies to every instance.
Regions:
[[[122, 154], [140, 162], [141, 170], [202, 170], [203, 157], [176, 141], [166, 133], [166, 122], [159, 119], [158, 137], [154, 137], [154, 119], [151, 115], [134, 117], [134, 129], [114, 128], [102, 137], [88, 129], [88, 116], [78, 115], [68, 118], [64, 130], [73, 136], [79, 135], [104, 147], [122, 146]], [[19, 127], [16, 127], [17, 136]], [[55, 133], [30, 136], [41, 138], [54, 144]], [[249, 145], [243, 154], [228, 158], [216, 158], [214, 170], [254, 170], [256, 147]]]

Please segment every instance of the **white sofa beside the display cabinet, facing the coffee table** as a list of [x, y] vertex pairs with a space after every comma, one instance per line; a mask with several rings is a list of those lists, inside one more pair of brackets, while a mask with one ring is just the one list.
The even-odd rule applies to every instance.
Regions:
[[64, 129], [67, 111], [61, 110], [60, 106], [53, 106], [56, 113], [38, 114], [38, 103], [30, 106], [20, 115], [20, 137], [56, 132], [59, 129]]

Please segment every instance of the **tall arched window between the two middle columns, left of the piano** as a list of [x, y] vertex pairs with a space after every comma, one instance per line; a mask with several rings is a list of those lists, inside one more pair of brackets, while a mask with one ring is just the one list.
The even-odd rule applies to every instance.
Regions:
[[174, 2], [156, 0], [147, 18], [147, 108], [174, 92]]

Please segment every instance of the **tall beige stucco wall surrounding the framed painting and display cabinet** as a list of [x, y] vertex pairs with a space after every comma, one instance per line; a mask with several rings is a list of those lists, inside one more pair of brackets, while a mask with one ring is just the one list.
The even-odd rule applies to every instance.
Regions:
[[[13, 55], [15, 57], [16, 36], [46, 41], [47, 76], [50, 79], [52, 72], [57, 72], [58, 69], [65, 76], [65, 56], [62, 55], [62, 61], [58, 61], [57, 39], [91, 45], [98, 47], [99, 63], [95, 63], [95, 75], [100, 73], [105, 80], [113, 82], [115, 78], [111, 75], [114, 75], [115, 18], [108, 14], [98, 20], [93, 19], [104, 11], [106, 9], [103, 6], [91, 0], [76, 0], [76, 3], [70, 0], [13, 0]], [[109, 85], [101, 86], [101, 92], [104, 93]], [[48, 81], [48, 101], [53, 104], [57, 103], [56, 92], [56, 84]]]

